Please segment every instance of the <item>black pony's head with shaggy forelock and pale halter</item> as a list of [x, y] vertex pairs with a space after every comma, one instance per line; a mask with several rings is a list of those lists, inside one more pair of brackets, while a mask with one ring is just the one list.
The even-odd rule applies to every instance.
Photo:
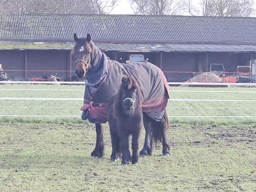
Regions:
[[131, 110], [140, 107], [141, 105], [141, 90], [138, 81], [135, 78], [122, 78], [120, 99], [122, 108]]

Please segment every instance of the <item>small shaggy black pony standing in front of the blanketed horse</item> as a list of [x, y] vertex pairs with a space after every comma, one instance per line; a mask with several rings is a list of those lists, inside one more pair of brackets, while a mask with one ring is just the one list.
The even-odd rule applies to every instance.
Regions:
[[[122, 164], [138, 163], [139, 135], [142, 128], [142, 100], [139, 83], [135, 78], [122, 78], [118, 93], [109, 102], [108, 123], [111, 132], [111, 160], [117, 161], [122, 152]], [[129, 150], [132, 135], [133, 155]]]

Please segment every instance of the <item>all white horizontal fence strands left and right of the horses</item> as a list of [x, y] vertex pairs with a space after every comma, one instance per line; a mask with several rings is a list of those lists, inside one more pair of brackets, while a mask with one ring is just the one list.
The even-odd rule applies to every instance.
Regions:
[[[0, 82], [0, 84], [76, 84], [84, 85], [84, 82]], [[256, 86], [254, 83], [179, 83], [170, 82], [169, 85], [242, 85]], [[29, 90], [29, 91], [84, 91], [84, 89], [0, 89], [0, 90]], [[171, 92], [227, 92], [227, 93], [256, 93], [256, 91], [207, 91], [207, 90], [171, 90]], [[41, 100], [41, 101], [83, 101], [81, 98], [0, 98], [0, 100]], [[256, 102], [256, 100], [210, 100], [210, 99], [170, 99], [170, 101], [213, 101], [213, 102]], [[15, 106], [2, 106], [4, 108], [16, 108]], [[19, 106], [20, 107], [20, 106]], [[21, 106], [20, 108], [77, 108], [80, 107], [44, 107]], [[256, 107], [167, 107], [167, 109], [256, 109]], [[47, 116], [47, 115], [0, 115], [0, 117], [62, 117], [80, 118], [81, 116]], [[171, 118], [255, 118], [256, 116], [168, 116]]]

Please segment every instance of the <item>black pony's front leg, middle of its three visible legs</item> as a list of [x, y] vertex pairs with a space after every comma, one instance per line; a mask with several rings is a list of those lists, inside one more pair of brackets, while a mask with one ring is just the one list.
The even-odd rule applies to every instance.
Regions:
[[122, 132], [120, 135], [120, 146], [121, 151], [123, 153], [122, 155], [122, 165], [126, 165], [131, 160], [131, 154], [129, 150], [129, 135], [127, 133]]

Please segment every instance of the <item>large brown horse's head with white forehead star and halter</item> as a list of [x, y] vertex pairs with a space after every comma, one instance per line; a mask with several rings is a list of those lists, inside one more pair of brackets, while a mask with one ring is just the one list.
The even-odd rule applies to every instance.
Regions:
[[76, 43], [72, 49], [72, 54], [75, 57], [76, 74], [79, 78], [83, 78], [92, 66], [91, 37], [90, 34], [87, 34], [86, 38], [78, 38], [75, 33], [74, 40]]

